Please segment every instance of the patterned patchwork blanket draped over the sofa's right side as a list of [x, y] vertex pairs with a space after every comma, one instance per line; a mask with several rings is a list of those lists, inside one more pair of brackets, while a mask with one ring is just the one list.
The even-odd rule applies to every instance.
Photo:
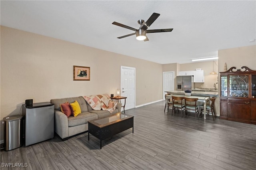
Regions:
[[94, 110], [102, 109], [112, 113], [116, 109], [117, 102], [111, 101], [109, 95], [90, 95], [83, 97]]

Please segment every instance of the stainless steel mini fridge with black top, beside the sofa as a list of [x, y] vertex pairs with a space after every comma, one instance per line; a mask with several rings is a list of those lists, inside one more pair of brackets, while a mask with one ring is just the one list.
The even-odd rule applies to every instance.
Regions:
[[22, 105], [25, 146], [54, 138], [54, 105], [50, 102]]

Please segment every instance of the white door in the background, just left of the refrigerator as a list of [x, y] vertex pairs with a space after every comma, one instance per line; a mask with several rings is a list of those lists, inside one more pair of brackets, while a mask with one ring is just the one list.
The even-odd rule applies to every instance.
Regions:
[[174, 71], [163, 72], [163, 100], [165, 91], [174, 90]]

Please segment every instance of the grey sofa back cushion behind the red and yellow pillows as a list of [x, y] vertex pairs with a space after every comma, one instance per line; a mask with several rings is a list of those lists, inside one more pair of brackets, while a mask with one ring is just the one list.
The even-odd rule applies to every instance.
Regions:
[[84, 100], [84, 98], [82, 96], [80, 97], [70, 97], [70, 98], [64, 98], [64, 99], [52, 99], [51, 103], [54, 104], [54, 109], [57, 109], [60, 111], [60, 104], [65, 103], [65, 102], [69, 102], [69, 103], [74, 103], [75, 101], [77, 101], [80, 105], [81, 108], [81, 112], [87, 112], [87, 103]]

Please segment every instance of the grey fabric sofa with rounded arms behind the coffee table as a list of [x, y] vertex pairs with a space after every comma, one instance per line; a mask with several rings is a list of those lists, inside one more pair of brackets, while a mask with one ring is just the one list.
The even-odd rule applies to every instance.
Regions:
[[[60, 111], [60, 104], [67, 101], [69, 103], [77, 101], [82, 113], [76, 117], [67, 117]], [[62, 138], [62, 140], [67, 140], [70, 136], [88, 131], [88, 121], [110, 115], [109, 111], [93, 110], [82, 96], [52, 99], [51, 103], [54, 104], [54, 131]], [[121, 112], [121, 103], [117, 103], [116, 109], [111, 114], [119, 112]]]

